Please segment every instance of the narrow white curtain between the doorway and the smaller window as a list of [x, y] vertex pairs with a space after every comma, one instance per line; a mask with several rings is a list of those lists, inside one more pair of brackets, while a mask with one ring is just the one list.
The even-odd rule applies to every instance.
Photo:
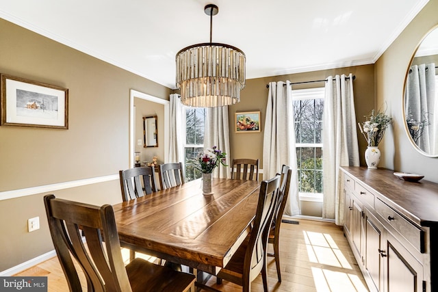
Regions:
[[[182, 105], [179, 100], [179, 94], [170, 94], [169, 105], [169, 161], [184, 162], [183, 155], [183, 137], [181, 135], [182, 127]], [[183, 163], [184, 164], [184, 163]]]

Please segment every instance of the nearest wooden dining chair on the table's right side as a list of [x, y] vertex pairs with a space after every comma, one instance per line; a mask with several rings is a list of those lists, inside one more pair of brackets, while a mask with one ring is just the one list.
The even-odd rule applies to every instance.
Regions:
[[266, 268], [266, 248], [272, 217], [279, 196], [281, 177], [277, 174], [269, 181], [262, 181], [259, 201], [253, 228], [250, 235], [237, 248], [229, 263], [220, 269], [217, 278], [218, 283], [228, 280], [242, 286], [244, 292], [251, 290], [251, 282], [261, 273], [263, 291], [268, 291], [268, 277]]

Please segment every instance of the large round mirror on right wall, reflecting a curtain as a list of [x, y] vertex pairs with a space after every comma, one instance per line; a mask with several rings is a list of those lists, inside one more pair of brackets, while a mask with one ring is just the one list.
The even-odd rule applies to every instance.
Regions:
[[404, 80], [405, 129], [423, 155], [438, 157], [438, 26], [415, 50]]

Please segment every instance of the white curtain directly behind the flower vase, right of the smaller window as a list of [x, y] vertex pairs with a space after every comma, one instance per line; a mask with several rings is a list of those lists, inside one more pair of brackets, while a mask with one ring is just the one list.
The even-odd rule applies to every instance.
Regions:
[[[209, 107], [204, 131], [204, 149], [218, 147], [222, 152], [227, 153], [226, 163], [230, 165], [230, 138], [228, 107]], [[231, 178], [229, 166], [219, 165], [213, 175], [220, 178]]]

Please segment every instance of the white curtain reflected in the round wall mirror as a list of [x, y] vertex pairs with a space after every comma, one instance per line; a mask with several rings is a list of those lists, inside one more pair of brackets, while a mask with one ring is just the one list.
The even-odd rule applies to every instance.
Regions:
[[404, 111], [406, 118], [413, 124], [427, 120], [420, 137], [415, 139], [415, 144], [426, 153], [438, 153], [438, 143], [435, 137], [435, 63], [411, 66], [409, 70], [404, 98]]

